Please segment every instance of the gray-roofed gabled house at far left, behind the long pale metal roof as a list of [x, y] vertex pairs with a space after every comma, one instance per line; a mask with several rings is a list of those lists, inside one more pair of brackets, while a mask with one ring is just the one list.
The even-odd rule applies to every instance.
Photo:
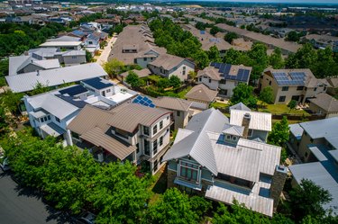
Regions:
[[15, 76], [19, 74], [36, 72], [39, 70], [47, 70], [52, 68], [58, 68], [58, 59], [45, 59], [38, 60], [31, 56], [15, 56], [9, 57], [8, 75]]

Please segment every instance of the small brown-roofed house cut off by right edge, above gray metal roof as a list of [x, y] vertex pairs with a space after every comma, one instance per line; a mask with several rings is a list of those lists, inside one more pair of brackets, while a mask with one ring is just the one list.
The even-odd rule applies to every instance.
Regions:
[[325, 118], [338, 116], [338, 101], [329, 94], [317, 94], [309, 102], [308, 109], [315, 114], [323, 114]]

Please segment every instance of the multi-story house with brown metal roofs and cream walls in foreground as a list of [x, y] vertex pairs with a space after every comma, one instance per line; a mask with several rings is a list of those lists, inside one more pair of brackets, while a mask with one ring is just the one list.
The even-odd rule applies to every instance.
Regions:
[[171, 112], [138, 103], [111, 110], [87, 105], [69, 123], [72, 143], [89, 148], [100, 162], [129, 160], [155, 174], [169, 148]]

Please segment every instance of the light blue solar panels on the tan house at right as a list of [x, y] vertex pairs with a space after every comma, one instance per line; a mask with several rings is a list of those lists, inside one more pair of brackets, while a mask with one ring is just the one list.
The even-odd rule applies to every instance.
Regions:
[[290, 72], [289, 74], [274, 72], [272, 75], [275, 77], [278, 85], [305, 85], [306, 74], [304, 72]]

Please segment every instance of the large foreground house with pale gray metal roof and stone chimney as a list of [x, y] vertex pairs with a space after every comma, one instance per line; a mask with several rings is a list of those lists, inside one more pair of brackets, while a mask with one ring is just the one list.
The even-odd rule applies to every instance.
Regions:
[[279, 166], [281, 148], [245, 138], [247, 119], [237, 126], [214, 108], [196, 114], [163, 157], [168, 187], [272, 217], [287, 170]]

